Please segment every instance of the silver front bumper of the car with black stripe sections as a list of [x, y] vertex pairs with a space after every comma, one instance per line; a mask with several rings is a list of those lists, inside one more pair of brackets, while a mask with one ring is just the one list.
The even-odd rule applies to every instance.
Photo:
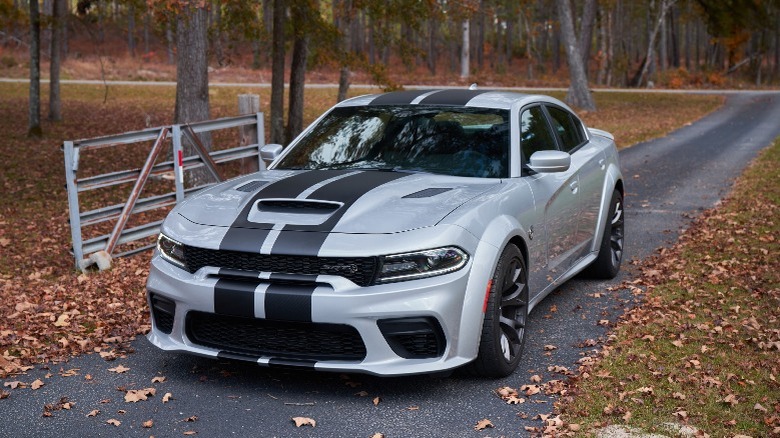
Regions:
[[[234, 310], [244, 314], [236, 319], [235, 314], [224, 314], [226, 307], [224, 303], [220, 304], [218, 293], [215, 293], [217, 289], [224, 289], [224, 270], [205, 267], [190, 274], [156, 254], [147, 282], [149, 305], [154, 309], [148, 339], [163, 350], [239, 359], [265, 366], [377, 375], [444, 371], [476, 357], [482, 326], [482, 300], [490, 274], [489, 269], [472, 259], [466, 267], [450, 274], [369, 287], [359, 287], [338, 276], [319, 275], [309, 279], [316, 284], [310, 295], [311, 321], [271, 318], [271, 309], [266, 306], [269, 288], [278, 284], [290, 285], [291, 279], [282, 278], [280, 282], [279, 276], [257, 274], [248, 288], [241, 286], [246, 292], [242, 299], [244, 308]], [[220, 281], [222, 283], [218, 285]], [[230, 307], [227, 310], [230, 313]], [[321, 333], [316, 333], [318, 330], [344, 328], [356, 333], [364, 351], [343, 358], [327, 354], [326, 357], [253, 354], [241, 348], [240, 341], [233, 345], [229, 345], [231, 342], [216, 345], [194, 335], [193, 321], [213, 319], [229, 323], [228, 327], [237, 327], [238, 321], [241, 327], [270, 324], [274, 330], [289, 328], [297, 330], [291, 335], [297, 341], [311, 342], [330, 339], [321, 337]], [[295, 319], [294, 315], [291, 319]], [[311, 336], [304, 336], [306, 331]], [[403, 345], [404, 340], [409, 339], [403, 338], [404, 333], [410, 331], [422, 333], [422, 338], [415, 339], [435, 342], [434, 347], [420, 346], [421, 350], [417, 351], [414, 345]], [[224, 333], [223, 339], [231, 337], [232, 331], [229, 331]], [[419, 344], [418, 341], [410, 342]], [[349, 347], [350, 351], [352, 348]], [[413, 350], [411, 354], [410, 349]]]

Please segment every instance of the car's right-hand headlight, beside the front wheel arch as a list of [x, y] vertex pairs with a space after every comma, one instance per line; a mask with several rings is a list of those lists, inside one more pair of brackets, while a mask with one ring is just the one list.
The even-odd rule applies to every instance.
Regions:
[[377, 283], [447, 274], [462, 268], [467, 261], [468, 255], [455, 247], [384, 256], [380, 257]]

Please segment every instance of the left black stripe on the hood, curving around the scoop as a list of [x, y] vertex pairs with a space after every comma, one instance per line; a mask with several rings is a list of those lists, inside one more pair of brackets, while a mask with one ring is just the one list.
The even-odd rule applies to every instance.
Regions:
[[351, 171], [318, 170], [316, 172], [301, 172], [264, 186], [252, 196], [252, 199], [247, 202], [235, 221], [233, 221], [233, 224], [230, 225], [227, 233], [225, 233], [225, 237], [222, 238], [219, 244], [219, 249], [259, 253], [260, 247], [263, 246], [263, 242], [268, 237], [273, 224], [258, 224], [247, 220], [249, 210], [258, 199], [295, 198], [315, 184], [349, 172]]

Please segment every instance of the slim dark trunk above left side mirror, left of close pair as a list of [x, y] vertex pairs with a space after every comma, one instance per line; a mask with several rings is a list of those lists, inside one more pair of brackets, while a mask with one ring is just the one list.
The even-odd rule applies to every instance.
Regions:
[[284, 22], [286, 2], [274, 0], [271, 60], [271, 143], [284, 144]]

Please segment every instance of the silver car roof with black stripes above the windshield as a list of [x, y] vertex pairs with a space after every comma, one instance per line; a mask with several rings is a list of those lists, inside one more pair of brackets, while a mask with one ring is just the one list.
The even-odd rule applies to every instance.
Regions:
[[384, 94], [369, 94], [345, 100], [337, 106], [433, 105], [508, 110], [518, 103], [522, 106], [533, 102], [553, 103], [571, 111], [563, 102], [550, 96], [515, 93], [511, 91], [469, 90], [462, 88], [405, 90]]

